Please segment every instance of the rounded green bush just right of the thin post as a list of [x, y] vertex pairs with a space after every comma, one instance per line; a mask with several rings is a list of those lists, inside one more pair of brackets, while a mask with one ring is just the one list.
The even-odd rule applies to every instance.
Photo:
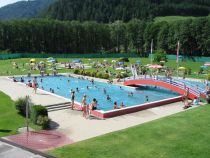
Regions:
[[47, 108], [42, 105], [34, 105], [31, 108], [31, 120], [33, 123], [37, 124], [37, 119], [39, 116], [48, 116]]

